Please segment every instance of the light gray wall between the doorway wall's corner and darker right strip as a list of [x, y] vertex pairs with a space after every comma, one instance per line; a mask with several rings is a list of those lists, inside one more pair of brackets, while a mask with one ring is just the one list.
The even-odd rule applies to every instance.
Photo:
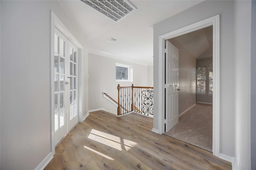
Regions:
[[[235, 157], [239, 170], [251, 169], [251, 1], [235, 1]], [[253, 16], [255, 17], [255, 16]], [[255, 66], [253, 66], [255, 67]], [[253, 73], [255, 74], [255, 72]], [[253, 84], [255, 86], [255, 84]], [[255, 122], [253, 122], [255, 123]], [[253, 129], [255, 131], [255, 129]], [[256, 145], [255, 143], [253, 145]], [[240, 154], [240, 155], [239, 155]], [[239, 159], [240, 158], [240, 159]]]

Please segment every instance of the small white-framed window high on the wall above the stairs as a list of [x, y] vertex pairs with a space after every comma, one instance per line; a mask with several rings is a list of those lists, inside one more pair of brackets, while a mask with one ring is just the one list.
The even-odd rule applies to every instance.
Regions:
[[116, 63], [116, 81], [132, 82], [132, 66]]

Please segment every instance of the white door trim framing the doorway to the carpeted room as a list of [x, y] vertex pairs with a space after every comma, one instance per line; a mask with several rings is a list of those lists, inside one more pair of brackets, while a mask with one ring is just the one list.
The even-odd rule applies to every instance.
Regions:
[[164, 133], [164, 43], [171, 39], [198, 29], [213, 25], [213, 108], [212, 108], [212, 151], [215, 156], [220, 155], [220, 16], [213, 16], [206, 20], [193, 23], [175, 31], [159, 36], [159, 104], [158, 133]]

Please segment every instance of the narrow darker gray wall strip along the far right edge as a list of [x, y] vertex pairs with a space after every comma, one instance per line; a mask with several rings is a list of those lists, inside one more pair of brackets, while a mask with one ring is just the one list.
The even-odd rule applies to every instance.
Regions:
[[256, 1], [252, 1], [251, 25], [251, 169], [256, 169]]

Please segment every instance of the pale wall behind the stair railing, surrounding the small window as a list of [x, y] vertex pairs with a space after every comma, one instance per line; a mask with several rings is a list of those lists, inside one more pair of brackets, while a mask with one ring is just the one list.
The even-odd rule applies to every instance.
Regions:
[[[133, 67], [133, 82], [116, 82], [116, 63]], [[116, 101], [118, 99], [117, 85], [148, 86], [148, 66], [128, 63], [109, 57], [89, 53], [89, 110], [103, 108], [117, 114], [117, 107], [103, 98], [106, 92]]]

